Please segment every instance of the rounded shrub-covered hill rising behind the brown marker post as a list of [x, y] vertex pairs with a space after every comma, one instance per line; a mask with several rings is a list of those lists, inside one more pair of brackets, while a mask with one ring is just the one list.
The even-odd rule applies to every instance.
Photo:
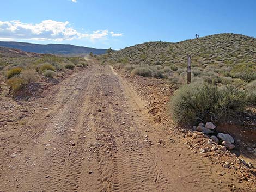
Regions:
[[[186, 82], [188, 54], [192, 57], [192, 81], [203, 79], [227, 83], [256, 78], [256, 39], [232, 33], [176, 43], [145, 42], [113, 52], [110, 56], [102, 55], [100, 59], [123, 67], [126, 72], [167, 78], [183, 84]], [[241, 71], [248, 71], [250, 79], [242, 77], [248, 74], [238, 74]]]

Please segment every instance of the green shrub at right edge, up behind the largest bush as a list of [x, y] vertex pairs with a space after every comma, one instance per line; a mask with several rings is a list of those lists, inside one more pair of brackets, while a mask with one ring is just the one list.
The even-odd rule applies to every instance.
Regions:
[[251, 82], [252, 80], [256, 80], [256, 67], [249, 64], [240, 64], [236, 65], [231, 70], [231, 76], [234, 78], [240, 78], [245, 80], [246, 82]]

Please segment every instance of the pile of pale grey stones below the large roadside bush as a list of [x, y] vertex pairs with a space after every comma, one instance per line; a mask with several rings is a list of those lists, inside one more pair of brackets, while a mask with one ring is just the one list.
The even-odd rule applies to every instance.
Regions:
[[[235, 148], [234, 139], [231, 135], [225, 133], [217, 133], [215, 131], [216, 126], [212, 122], [199, 123], [198, 126], [193, 126], [194, 130], [203, 132], [204, 134], [211, 135], [211, 140], [215, 143], [220, 143], [229, 150]], [[216, 137], [217, 135], [217, 137]]]

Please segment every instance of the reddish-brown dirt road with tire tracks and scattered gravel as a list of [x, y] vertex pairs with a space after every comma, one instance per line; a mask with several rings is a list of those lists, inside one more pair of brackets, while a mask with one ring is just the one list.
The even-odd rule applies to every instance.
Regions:
[[0, 191], [230, 191], [111, 67], [78, 72], [38, 102], [0, 134]]

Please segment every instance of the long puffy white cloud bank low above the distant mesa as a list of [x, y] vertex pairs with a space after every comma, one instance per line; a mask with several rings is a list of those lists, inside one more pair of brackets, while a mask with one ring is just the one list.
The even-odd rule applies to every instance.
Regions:
[[0, 39], [27, 39], [36, 41], [63, 41], [87, 38], [106, 39], [108, 36], [123, 36], [108, 30], [94, 30], [93, 33], [81, 33], [70, 27], [68, 21], [44, 20], [38, 24], [22, 23], [19, 20], [0, 21]]

